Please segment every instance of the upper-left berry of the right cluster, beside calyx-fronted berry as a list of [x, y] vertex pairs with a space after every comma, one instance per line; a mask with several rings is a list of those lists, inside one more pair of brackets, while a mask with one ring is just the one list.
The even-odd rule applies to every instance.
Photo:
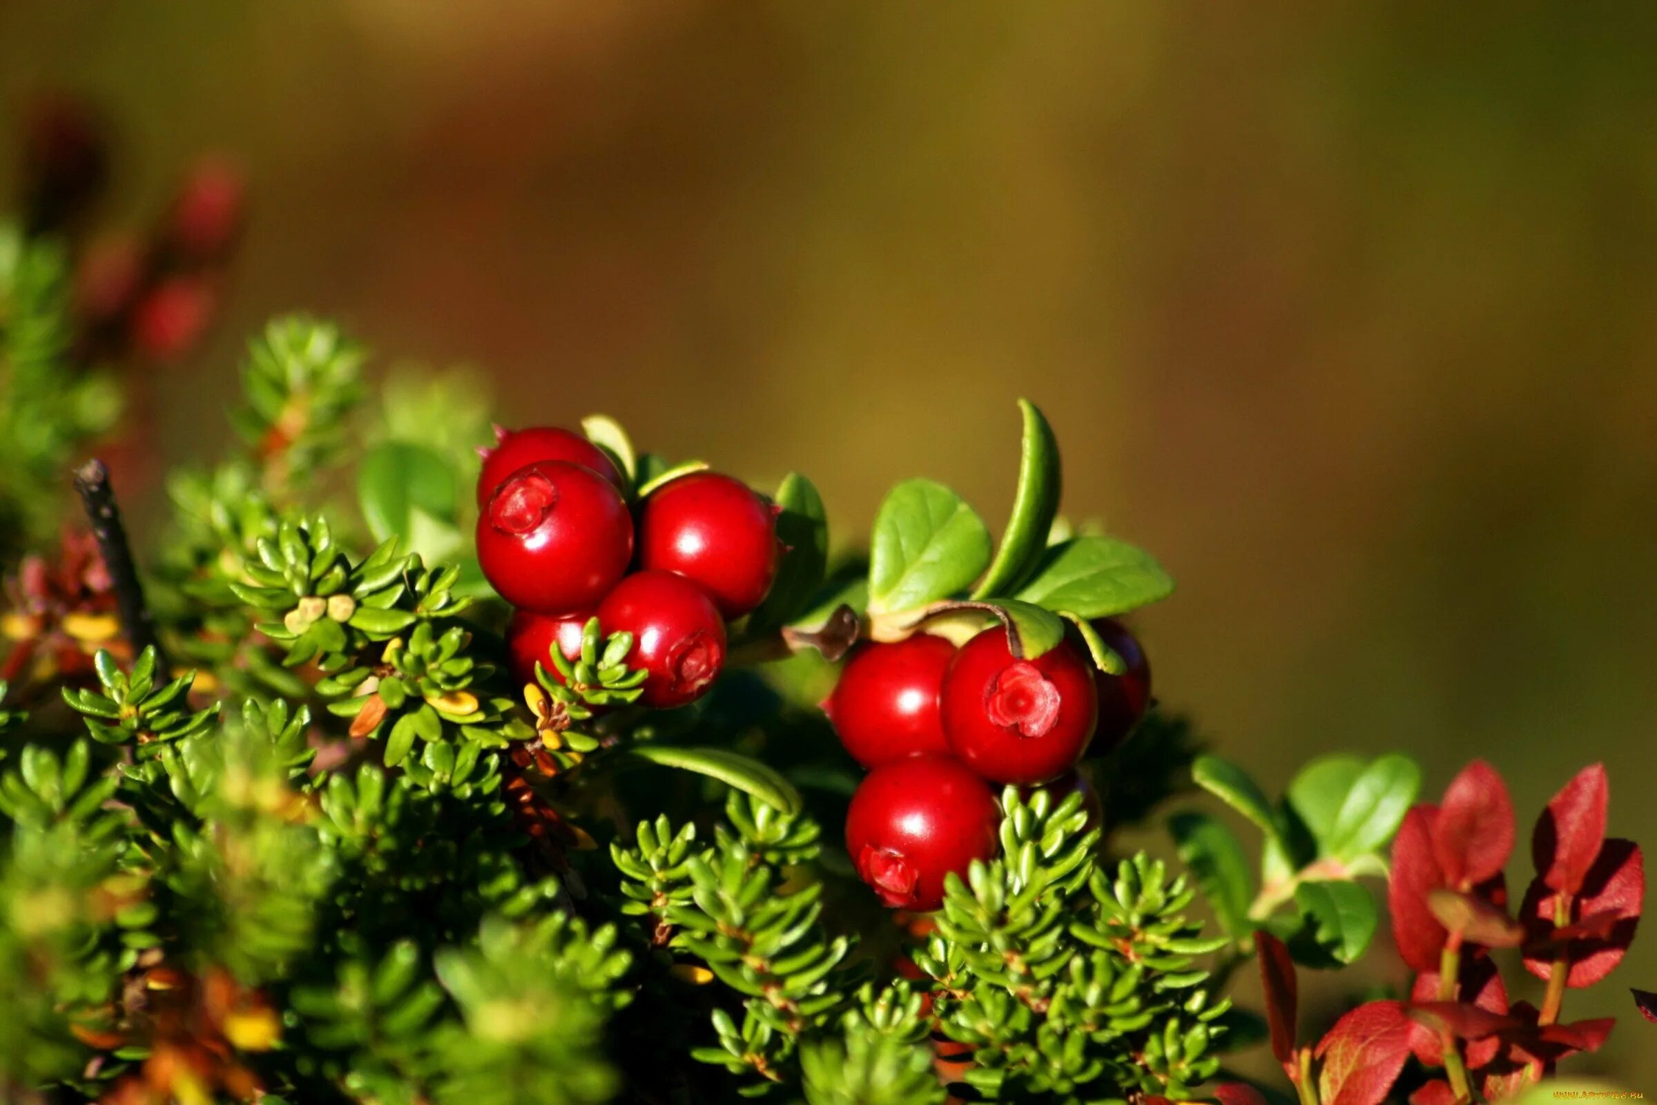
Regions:
[[954, 644], [916, 633], [891, 644], [860, 644], [824, 702], [840, 744], [863, 767], [920, 752], [948, 752], [938, 691]]

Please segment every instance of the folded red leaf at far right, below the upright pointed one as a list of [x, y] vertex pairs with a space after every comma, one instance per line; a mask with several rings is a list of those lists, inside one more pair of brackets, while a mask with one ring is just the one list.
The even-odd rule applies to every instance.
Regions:
[[[1592, 986], [1611, 974], [1634, 941], [1644, 898], [1645, 865], [1639, 845], [1630, 840], [1607, 840], [1582, 880], [1581, 893], [1571, 900], [1571, 911], [1564, 919], [1566, 926], [1574, 926], [1591, 918], [1592, 928], [1601, 931], [1604, 918], [1597, 914], [1614, 913], [1617, 919], [1604, 938], [1571, 939], [1564, 946], [1564, 958], [1571, 961], [1566, 986], [1572, 989]], [[1558, 900], [1559, 895], [1538, 878], [1524, 891], [1524, 903], [1519, 906], [1519, 921], [1526, 933], [1524, 966], [1539, 979], [1549, 976], [1553, 959], [1561, 953], [1553, 946]]]

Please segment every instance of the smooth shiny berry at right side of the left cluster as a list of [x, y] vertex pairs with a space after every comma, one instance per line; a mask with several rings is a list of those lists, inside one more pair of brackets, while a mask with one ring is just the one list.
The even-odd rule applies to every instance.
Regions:
[[681, 475], [645, 500], [640, 565], [699, 583], [726, 618], [766, 600], [777, 578], [777, 512], [742, 480]]

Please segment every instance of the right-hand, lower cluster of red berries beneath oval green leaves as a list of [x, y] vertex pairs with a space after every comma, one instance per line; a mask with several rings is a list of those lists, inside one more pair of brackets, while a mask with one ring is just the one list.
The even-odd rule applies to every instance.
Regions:
[[918, 633], [860, 644], [824, 702], [840, 742], [868, 775], [852, 795], [845, 847], [888, 906], [936, 910], [944, 876], [996, 853], [1001, 810], [989, 784], [1099, 794], [1077, 767], [1089, 744], [1115, 747], [1150, 701], [1150, 666], [1128, 630], [1092, 623], [1125, 663], [1099, 671], [1062, 641], [1022, 659], [993, 626], [959, 649]]

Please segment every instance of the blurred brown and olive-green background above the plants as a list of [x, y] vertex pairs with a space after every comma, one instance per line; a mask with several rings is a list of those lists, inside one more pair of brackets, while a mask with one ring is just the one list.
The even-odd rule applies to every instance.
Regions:
[[[7, 0], [8, 118], [40, 89], [116, 124], [116, 224], [249, 171], [167, 459], [297, 306], [507, 422], [797, 467], [842, 542], [905, 475], [1004, 515], [1026, 394], [1067, 510], [1180, 580], [1138, 625], [1223, 754], [1483, 755], [1524, 840], [1604, 759], [1657, 842], [1649, 7]], [[1626, 986], [1657, 936], [1574, 1069], [1657, 1090]]]

